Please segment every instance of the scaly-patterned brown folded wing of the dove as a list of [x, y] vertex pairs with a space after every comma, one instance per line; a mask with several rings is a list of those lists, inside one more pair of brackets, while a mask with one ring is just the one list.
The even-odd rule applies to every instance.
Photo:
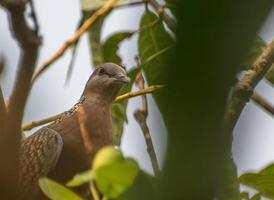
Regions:
[[46, 176], [56, 166], [62, 148], [60, 134], [47, 127], [23, 140], [20, 149], [19, 183], [24, 196], [39, 193], [39, 178]]

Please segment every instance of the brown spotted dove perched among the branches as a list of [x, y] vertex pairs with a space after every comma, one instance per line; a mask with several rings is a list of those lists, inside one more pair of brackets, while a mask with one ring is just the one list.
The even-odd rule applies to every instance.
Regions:
[[69, 111], [22, 141], [20, 199], [42, 199], [40, 177], [66, 183], [76, 173], [91, 167], [98, 150], [113, 145], [111, 105], [121, 87], [129, 82], [126, 70], [120, 65], [99, 65], [88, 79], [80, 100]]

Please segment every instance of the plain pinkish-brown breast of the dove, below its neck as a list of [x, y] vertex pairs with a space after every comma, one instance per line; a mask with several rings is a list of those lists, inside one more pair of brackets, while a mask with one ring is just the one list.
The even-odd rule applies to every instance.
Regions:
[[90, 168], [96, 152], [113, 143], [110, 107], [104, 105], [80, 106], [73, 115], [51, 128], [61, 134], [64, 143], [52, 173], [61, 182]]

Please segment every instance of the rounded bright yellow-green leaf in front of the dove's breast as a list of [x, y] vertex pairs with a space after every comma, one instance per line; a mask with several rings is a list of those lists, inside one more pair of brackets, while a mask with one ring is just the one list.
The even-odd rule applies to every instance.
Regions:
[[116, 198], [134, 182], [138, 164], [124, 158], [121, 151], [112, 146], [104, 147], [95, 156], [93, 173], [99, 190], [107, 198]]

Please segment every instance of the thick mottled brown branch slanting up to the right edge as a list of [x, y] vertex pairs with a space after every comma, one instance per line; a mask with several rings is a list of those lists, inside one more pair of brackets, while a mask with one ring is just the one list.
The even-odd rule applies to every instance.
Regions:
[[268, 45], [256, 62], [248, 69], [241, 80], [233, 88], [225, 113], [224, 128], [226, 137], [231, 137], [231, 132], [249, 101], [258, 82], [264, 77], [274, 62], [274, 40]]

